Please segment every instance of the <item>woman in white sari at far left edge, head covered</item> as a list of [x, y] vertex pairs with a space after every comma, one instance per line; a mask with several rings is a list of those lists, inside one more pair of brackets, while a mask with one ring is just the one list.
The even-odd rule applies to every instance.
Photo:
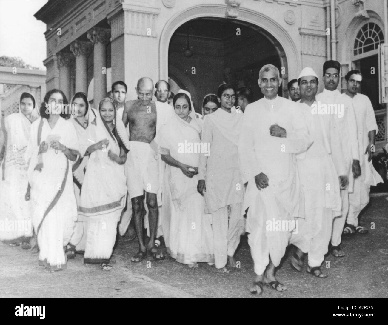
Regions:
[[30, 137], [31, 123], [38, 118], [35, 98], [22, 93], [19, 112], [2, 119], [0, 126], [0, 151], [4, 159], [0, 166], [0, 240], [10, 246], [22, 245], [30, 249], [32, 237], [31, 210], [25, 199], [28, 185], [28, 164], [24, 154]]

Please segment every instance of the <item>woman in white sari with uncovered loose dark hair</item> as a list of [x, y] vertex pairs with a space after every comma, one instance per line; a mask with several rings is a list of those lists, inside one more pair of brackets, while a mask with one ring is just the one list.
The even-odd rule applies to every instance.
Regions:
[[[39, 264], [51, 271], [66, 268], [64, 248], [77, 220], [71, 168], [79, 152], [73, 124], [62, 114], [67, 99], [61, 90], [50, 90], [40, 107], [40, 118], [31, 124], [26, 152], [30, 157], [28, 188], [32, 222], [39, 246]], [[29, 193], [30, 192], [30, 193]]]

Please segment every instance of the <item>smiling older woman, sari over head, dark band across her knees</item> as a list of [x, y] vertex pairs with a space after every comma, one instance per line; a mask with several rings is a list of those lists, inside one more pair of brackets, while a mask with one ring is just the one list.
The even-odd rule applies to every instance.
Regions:
[[116, 119], [113, 99], [104, 98], [81, 143], [81, 152], [89, 156], [78, 207], [78, 214], [87, 220], [83, 262], [100, 263], [102, 270], [112, 269], [109, 259], [127, 192], [124, 163], [129, 143], [118, 135], [118, 123], [123, 122]]

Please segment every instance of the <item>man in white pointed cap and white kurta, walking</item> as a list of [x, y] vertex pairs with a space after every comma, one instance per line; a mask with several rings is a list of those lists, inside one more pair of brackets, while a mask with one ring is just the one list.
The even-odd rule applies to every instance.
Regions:
[[[301, 192], [296, 218], [299, 231], [290, 239], [290, 243], [297, 247], [291, 256], [291, 265], [301, 271], [301, 252], [307, 253], [307, 272], [326, 278], [320, 265], [327, 253], [333, 217], [341, 214], [340, 182], [342, 186], [346, 185], [347, 171], [341, 159], [341, 144], [334, 120], [317, 111], [317, 74], [309, 67], [304, 68], [298, 77], [298, 85], [301, 93], [299, 109], [314, 142], [307, 152], [296, 156]], [[341, 175], [340, 180], [338, 175]]]

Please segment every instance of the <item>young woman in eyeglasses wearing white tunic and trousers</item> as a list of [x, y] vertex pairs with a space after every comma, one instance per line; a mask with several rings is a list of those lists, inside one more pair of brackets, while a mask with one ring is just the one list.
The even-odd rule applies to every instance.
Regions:
[[244, 231], [237, 152], [242, 114], [232, 112], [236, 91], [231, 85], [221, 85], [217, 97], [221, 107], [203, 119], [202, 142], [209, 143], [210, 152], [200, 155], [197, 190], [204, 196], [205, 213], [211, 213], [216, 268], [229, 273], [226, 265], [236, 267], [234, 252]]

